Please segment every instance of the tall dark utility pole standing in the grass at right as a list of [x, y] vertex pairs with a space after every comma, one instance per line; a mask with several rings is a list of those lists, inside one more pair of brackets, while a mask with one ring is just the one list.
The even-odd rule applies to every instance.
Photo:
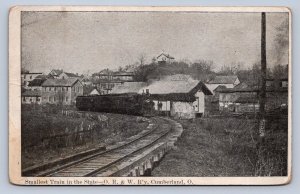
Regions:
[[266, 56], [266, 13], [261, 14], [261, 84], [259, 90], [259, 138], [262, 142], [265, 137], [266, 119], [266, 77], [267, 77], [267, 56]]

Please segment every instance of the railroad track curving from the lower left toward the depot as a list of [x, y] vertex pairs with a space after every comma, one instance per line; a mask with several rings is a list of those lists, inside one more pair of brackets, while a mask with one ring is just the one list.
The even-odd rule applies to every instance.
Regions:
[[[101, 176], [103, 172], [114, 171], [117, 165], [130, 161], [130, 159], [145, 151], [149, 151], [158, 144], [162, 144], [164, 138], [172, 131], [172, 124], [163, 118], [152, 118], [154, 128], [141, 137], [125, 143], [124, 145], [94, 153], [78, 160], [61, 164], [59, 167], [36, 172], [31, 176], [47, 177], [86, 177]], [[107, 174], [107, 173], [106, 173]]]

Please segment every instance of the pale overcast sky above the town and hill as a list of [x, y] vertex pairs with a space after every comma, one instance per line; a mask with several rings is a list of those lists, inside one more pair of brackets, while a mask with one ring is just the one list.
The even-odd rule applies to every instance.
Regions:
[[[287, 13], [267, 13], [267, 63], [278, 61], [276, 28]], [[151, 58], [162, 51], [176, 60], [224, 64], [260, 60], [260, 13], [23, 12], [22, 65], [30, 71], [93, 73]]]

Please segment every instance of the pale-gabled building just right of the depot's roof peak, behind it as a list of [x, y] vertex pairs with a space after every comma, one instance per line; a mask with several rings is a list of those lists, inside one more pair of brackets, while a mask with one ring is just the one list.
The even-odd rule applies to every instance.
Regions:
[[239, 78], [236, 75], [226, 75], [226, 76], [216, 76], [214, 79], [210, 80], [206, 85], [214, 93], [214, 90], [218, 86], [225, 86], [226, 88], [234, 88], [240, 83]]

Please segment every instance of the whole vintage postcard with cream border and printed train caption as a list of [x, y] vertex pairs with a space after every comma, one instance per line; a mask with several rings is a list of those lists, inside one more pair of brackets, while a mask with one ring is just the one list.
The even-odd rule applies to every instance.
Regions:
[[291, 43], [286, 7], [12, 7], [10, 182], [287, 184]]

